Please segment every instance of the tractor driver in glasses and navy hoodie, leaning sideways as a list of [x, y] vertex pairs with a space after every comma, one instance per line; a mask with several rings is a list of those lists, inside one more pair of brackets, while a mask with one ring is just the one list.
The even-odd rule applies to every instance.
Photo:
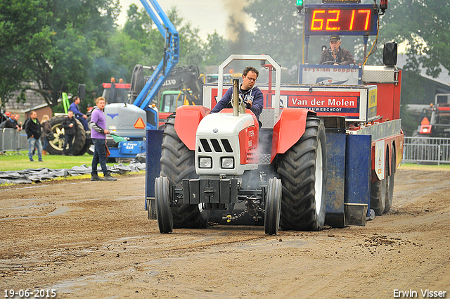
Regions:
[[[256, 68], [248, 66], [242, 72], [242, 83], [239, 87], [239, 97], [243, 99], [245, 108], [252, 110], [256, 118], [262, 113], [263, 99], [262, 91], [255, 87], [259, 71]], [[210, 113], [216, 113], [224, 108], [231, 108], [231, 98], [233, 97], [233, 87], [230, 87], [221, 100], [211, 110]]]

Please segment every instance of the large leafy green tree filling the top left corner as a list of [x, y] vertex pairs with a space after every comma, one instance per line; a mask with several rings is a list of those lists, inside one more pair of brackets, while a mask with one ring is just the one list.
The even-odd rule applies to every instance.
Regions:
[[93, 66], [105, 56], [118, 13], [118, 0], [1, 1], [0, 51], [18, 70], [11, 82], [36, 81], [35, 91], [51, 107], [61, 92], [75, 93], [79, 83], [93, 87], [103, 75]]

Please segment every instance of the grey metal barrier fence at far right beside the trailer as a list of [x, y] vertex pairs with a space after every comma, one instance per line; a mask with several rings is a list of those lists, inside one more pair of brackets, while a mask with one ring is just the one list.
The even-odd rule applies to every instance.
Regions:
[[450, 138], [404, 137], [404, 163], [450, 163]]

